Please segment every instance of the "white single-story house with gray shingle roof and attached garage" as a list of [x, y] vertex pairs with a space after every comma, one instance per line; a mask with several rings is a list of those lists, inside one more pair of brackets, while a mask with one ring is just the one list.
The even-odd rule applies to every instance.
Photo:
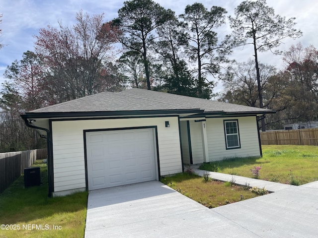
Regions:
[[21, 115], [47, 138], [49, 196], [180, 173], [184, 164], [262, 156], [271, 110], [144, 89], [103, 92]]

